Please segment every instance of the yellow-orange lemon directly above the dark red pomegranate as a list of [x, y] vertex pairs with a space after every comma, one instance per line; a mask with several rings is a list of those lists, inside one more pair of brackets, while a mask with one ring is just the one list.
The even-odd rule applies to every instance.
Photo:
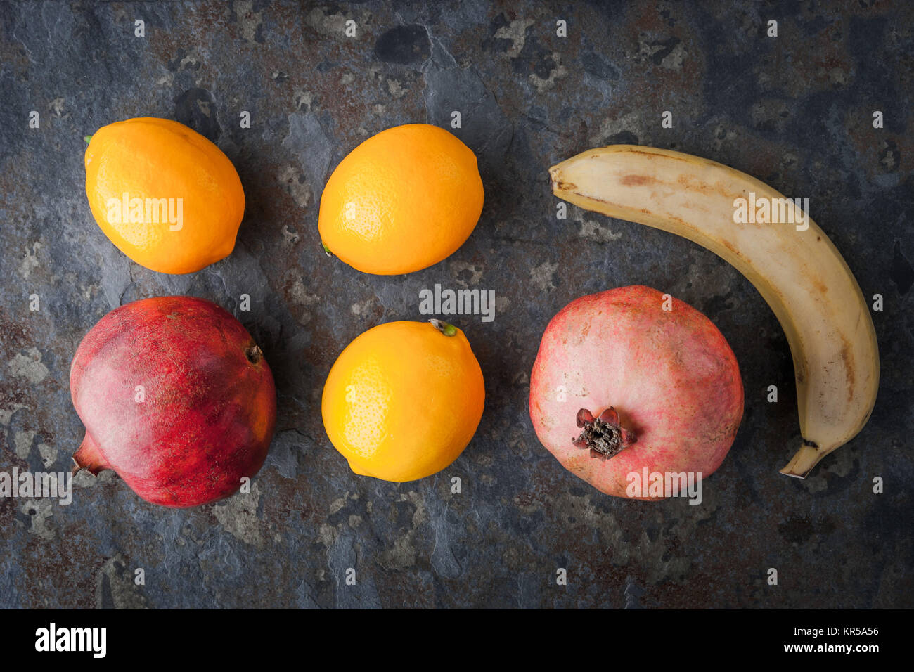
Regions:
[[241, 180], [200, 133], [153, 117], [112, 123], [91, 136], [85, 161], [95, 221], [141, 266], [195, 272], [234, 249]]

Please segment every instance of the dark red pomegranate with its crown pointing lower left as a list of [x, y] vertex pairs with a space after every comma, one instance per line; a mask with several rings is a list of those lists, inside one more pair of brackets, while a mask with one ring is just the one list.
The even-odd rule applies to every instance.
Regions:
[[260, 347], [227, 311], [191, 296], [102, 317], [77, 348], [69, 388], [86, 426], [74, 472], [113, 469], [165, 507], [237, 491], [260, 470], [276, 423]]

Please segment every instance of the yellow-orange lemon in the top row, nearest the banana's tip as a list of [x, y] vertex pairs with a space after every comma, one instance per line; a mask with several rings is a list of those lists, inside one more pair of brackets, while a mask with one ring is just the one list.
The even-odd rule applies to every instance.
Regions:
[[411, 123], [359, 144], [327, 180], [324, 249], [359, 271], [426, 268], [470, 237], [483, 211], [476, 156], [438, 126]]

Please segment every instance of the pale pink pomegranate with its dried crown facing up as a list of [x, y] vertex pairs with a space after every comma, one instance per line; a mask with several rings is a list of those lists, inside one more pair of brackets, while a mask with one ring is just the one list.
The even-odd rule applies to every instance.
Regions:
[[717, 327], [640, 285], [565, 306], [549, 322], [530, 375], [540, 442], [613, 496], [670, 496], [632, 491], [644, 474], [714, 473], [742, 412], [739, 366]]

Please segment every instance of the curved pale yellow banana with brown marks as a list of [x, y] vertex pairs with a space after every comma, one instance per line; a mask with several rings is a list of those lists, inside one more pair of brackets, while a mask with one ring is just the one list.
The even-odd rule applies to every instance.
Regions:
[[[549, 175], [556, 196], [693, 240], [759, 290], [787, 335], [800, 407], [802, 446], [781, 474], [805, 478], [863, 429], [879, 384], [873, 320], [841, 253], [793, 199], [727, 165], [631, 144], [572, 156]], [[752, 208], [766, 199], [767, 218]], [[776, 211], [781, 223], [760, 223]]]

